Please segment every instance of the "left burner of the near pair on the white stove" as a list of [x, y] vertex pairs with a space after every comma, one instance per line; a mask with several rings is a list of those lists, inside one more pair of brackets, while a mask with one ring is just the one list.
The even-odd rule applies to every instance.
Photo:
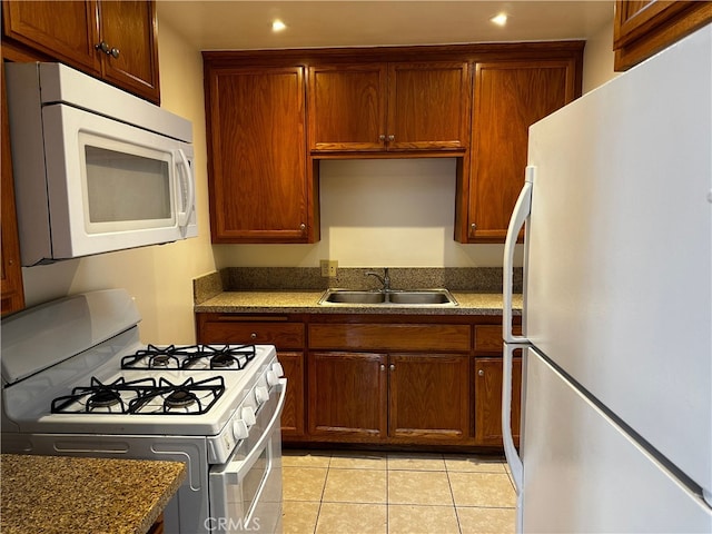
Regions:
[[52, 400], [52, 414], [109, 413], [126, 414], [129, 403], [145, 392], [155, 389], [154, 378], [141, 378], [126, 382], [118, 378], [112, 384], [102, 384], [91, 377], [89, 386], [75, 387], [71, 395], [63, 395]]

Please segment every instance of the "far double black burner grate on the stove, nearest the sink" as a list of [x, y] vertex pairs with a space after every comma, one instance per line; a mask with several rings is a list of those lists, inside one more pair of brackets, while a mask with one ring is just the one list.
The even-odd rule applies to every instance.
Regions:
[[148, 345], [121, 358], [122, 369], [241, 370], [255, 358], [255, 345]]

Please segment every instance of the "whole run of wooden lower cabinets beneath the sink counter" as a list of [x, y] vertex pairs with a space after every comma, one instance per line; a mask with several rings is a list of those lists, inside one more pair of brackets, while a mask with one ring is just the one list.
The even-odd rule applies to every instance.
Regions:
[[[196, 320], [199, 343], [277, 347], [287, 377], [287, 443], [502, 447], [501, 317], [197, 314]], [[517, 356], [515, 441], [521, 369]]]

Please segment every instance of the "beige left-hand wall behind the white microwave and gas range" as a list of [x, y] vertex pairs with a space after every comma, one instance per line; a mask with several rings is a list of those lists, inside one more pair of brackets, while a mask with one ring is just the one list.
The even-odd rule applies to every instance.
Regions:
[[136, 298], [146, 343], [192, 343], [191, 279], [215, 270], [208, 222], [202, 60], [168, 27], [159, 31], [161, 105], [192, 121], [197, 238], [24, 268], [28, 305], [65, 295], [123, 287]]

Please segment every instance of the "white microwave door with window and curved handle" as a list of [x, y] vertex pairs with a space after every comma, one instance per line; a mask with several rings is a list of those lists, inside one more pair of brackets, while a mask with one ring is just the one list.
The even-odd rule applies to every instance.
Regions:
[[41, 258], [197, 234], [190, 145], [65, 105], [44, 107], [42, 116], [51, 243], [38, 247]]

